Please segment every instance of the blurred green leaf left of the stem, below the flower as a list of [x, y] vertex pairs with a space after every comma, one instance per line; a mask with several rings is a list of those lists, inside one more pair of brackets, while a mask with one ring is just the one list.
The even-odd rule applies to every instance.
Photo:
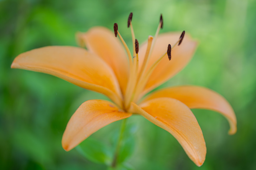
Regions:
[[111, 164], [113, 154], [111, 153], [110, 148], [106, 144], [93, 139], [92, 137], [84, 140], [76, 147], [76, 149], [92, 162], [106, 165]]

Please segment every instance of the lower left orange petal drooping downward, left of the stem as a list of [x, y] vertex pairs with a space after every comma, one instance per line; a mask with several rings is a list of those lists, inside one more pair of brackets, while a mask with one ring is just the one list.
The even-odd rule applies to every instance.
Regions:
[[62, 137], [62, 147], [69, 151], [100, 128], [131, 115], [109, 101], [85, 101], [70, 118]]

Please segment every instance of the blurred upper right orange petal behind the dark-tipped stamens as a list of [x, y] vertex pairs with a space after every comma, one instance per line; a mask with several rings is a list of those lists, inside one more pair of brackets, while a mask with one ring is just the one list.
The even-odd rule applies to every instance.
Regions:
[[[147, 69], [164, 53], [167, 51], [168, 44], [173, 46], [176, 41], [180, 38], [180, 33], [164, 33], [160, 34], [156, 39], [155, 47], [152, 51], [152, 55], [148, 61]], [[161, 85], [168, 79], [172, 78], [175, 74], [177, 74], [181, 69], [183, 69], [191, 57], [193, 56], [196, 49], [196, 41], [193, 41], [190, 36], [185, 34], [185, 37], [180, 44], [180, 46], [176, 46], [172, 49], [172, 59], [169, 61], [168, 56], [164, 56], [164, 58], [160, 61], [160, 63], [156, 66], [153, 73], [150, 76], [150, 79], [145, 86], [143, 94], [149, 92], [150, 90], [156, 88]], [[144, 60], [144, 55], [146, 53], [147, 43], [144, 43], [139, 51], [140, 61]], [[140, 62], [141, 67], [142, 62]], [[142, 95], [143, 95], [142, 94]], [[141, 95], [141, 96], [142, 96]]]

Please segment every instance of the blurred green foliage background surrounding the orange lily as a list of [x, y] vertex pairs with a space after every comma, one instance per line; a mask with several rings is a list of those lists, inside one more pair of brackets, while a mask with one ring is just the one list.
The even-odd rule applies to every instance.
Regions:
[[[205, 162], [197, 167], [172, 135], [141, 116], [132, 116], [127, 128], [131, 142], [124, 148], [127, 157], [122, 168], [256, 169], [255, 9], [254, 0], [1, 0], [1, 169], [107, 169], [96, 163], [100, 161], [95, 160], [97, 154], [93, 157], [95, 153], [81, 154], [81, 148], [66, 152], [61, 147], [62, 134], [76, 108], [86, 100], [106, 97], [50, 75], [10, 66], [22, 52], [50, 45], [77, 46], [77, 31], [92, 26], [112, 30], [115, 22], [131, 47], [126, 26], [130, 12], [139, 42], [154, 35], [160, 13], [162, 33], [186, 30], [199, 41], [188, 66], [159, 88], [191, 84], [219, 92], [235, 110], [237, 133], [228, 135], [228, 122], [220, 114], [193, 109], [207, 147]], [[111, 155], [119, 127], [120, 121], [112, 123], [82, 145], [95, 144]]]

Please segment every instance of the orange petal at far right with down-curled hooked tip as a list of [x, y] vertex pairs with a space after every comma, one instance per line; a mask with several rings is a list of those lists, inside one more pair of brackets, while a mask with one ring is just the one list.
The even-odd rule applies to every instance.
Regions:
[[177, 86], [169, 87], [148, 95], [146, 99], [151, 100], [159, 97], [170, 97], [180, 100], [189, 108], [200, 108], [214, 110], [226, 117], [229, 122], [229, 134], [236, 133], [236, 115], [228, 101], [217, 92], [199, 86]]

